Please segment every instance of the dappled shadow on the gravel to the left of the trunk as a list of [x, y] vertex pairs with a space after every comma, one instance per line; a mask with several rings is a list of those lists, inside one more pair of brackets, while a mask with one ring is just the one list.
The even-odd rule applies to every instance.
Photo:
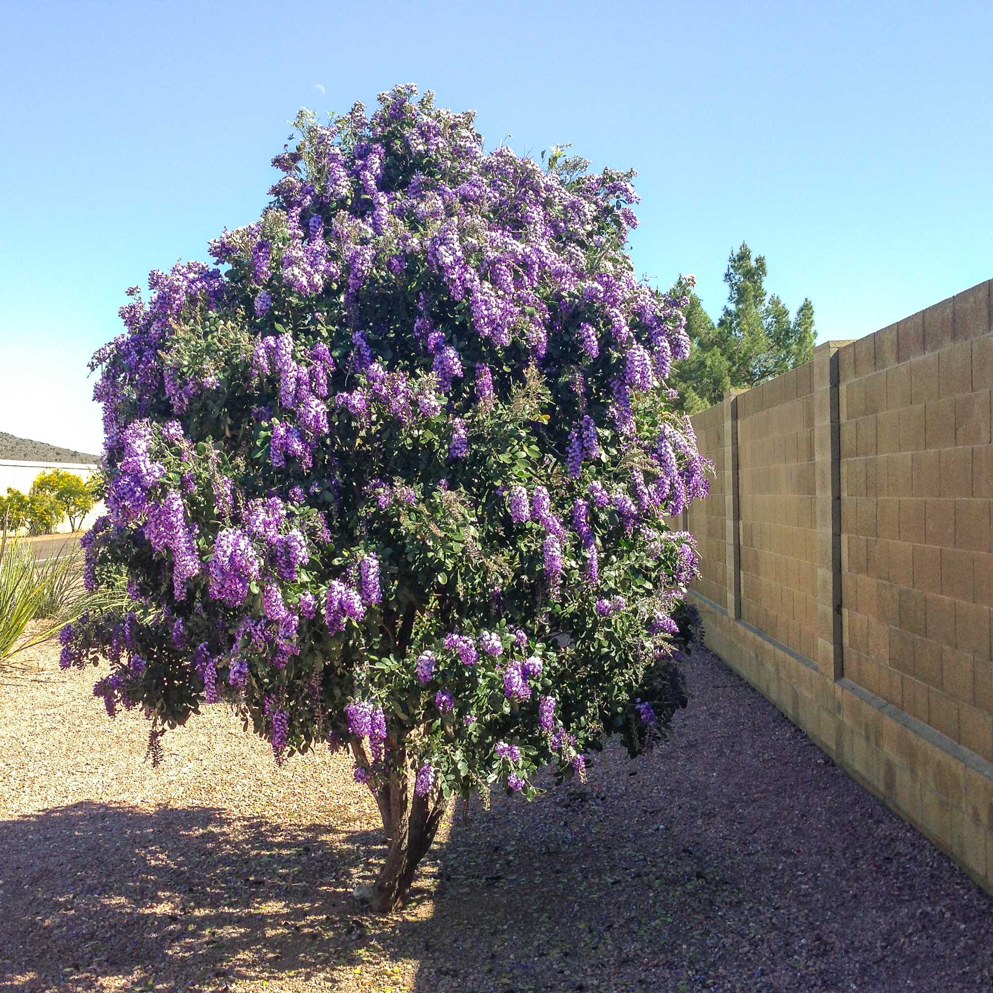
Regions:
[[[351, 890], [382, 851], [374, 831], [211, 807], [84, 802], [2, 822], [0, 990], [331, 979], [377, 957], [386, 922]], [[409, 925], [388, 930], [402, 954]]]

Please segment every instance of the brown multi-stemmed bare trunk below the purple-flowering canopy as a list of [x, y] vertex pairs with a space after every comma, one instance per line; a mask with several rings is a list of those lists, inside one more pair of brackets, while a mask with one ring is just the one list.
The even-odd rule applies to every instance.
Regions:
[[434, 841], [447, 804], [436, 790], [418, 796], [409, 772], [393, 773], [389, 785], [374, 794], [389, 847], [375, 882], [361, 897], [373, 911], [388, 914], [406, 904], [417, 867]]

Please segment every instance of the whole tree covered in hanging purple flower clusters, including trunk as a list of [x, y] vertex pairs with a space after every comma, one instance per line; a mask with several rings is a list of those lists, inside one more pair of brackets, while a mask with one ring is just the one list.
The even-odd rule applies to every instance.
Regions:
[[125, 585], [63, 638], [112, 715], [165, 728], [229, 701], [276, 760], [346, 748], [402, 903], [447, 800], [525, 797], [632, 755], [685, 704], [670, 530], [707, 492], [667, 409], [689, 281], [625, 253], [630, 173], [486, 154], [413, 86], [273, 164], [216, 267], [153, 272], [101, 370], [108, 513], [86, 584]]

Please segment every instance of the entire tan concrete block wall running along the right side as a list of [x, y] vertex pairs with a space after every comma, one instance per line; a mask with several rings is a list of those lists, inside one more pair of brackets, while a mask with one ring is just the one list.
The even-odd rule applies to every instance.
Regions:
[[707, 643], [993, 892], [982, 283], [693, 418]]

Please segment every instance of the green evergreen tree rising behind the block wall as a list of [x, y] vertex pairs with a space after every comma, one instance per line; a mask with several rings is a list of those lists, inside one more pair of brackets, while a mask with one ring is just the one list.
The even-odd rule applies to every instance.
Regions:
[[731, 388], [755, 386], [813, 357], [813, 304], [804, 299], [790, 320], [780, 297], [767, 297], [766, 275], [765, 256], [753, 258], [742, 242], [728, 259], [728, 302], [716, 325], [690, 294], [686, 331], [691, 351], [675, 366], [671, 381], [688, 413], [720, 403]]

